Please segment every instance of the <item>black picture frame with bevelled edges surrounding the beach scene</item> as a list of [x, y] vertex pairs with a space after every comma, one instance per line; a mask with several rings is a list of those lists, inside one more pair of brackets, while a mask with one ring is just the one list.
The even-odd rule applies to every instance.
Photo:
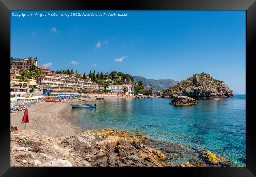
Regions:
[[[7, 91], [7, 82], [9, 79], [8, 63], [10, 57], [10, 10], [246, 10], [246, 167], [242, 168], [10, 168], [10, 139], [9, 139], [9, 119], [7, 116], [1, 116], [2, 126], [0, 129], [1, 136], [1, 151], [0, 151], [0, 175], [2, 176], [46, 176], [53, 175], [54, 171], [58, 174], [65, 173], [66, 175], [82, 172], [94, 172], [99, 176], [99, 171], [108, 173], [106, 170], [118, 170], [119, 173], [112, 175], [122, 175], [123, 170], [127, 170], [130, 175], [134, 175], [134, 170], [145, 172], [157, 172], [161, 175], [164, 170], [167, 174], [176, 172], [179, 175], [186, 173], [189, 176], [232, 176], [245, 177], [256, 175], [256, 138], [254, 117], [250, 116], [253, 113], [253, 64], [252, 61], [256, 58], [255, 43], [256, 43], [256, 2], [255, 0], [136, 0], [136, 1], [93, 1], [93, 0], [0, 0], [0, 20], [1, 20], [1, 49], [3, 69], [2, 78], [5, 78], [4, 88]], [[3, 55], [4, 54], [4, 55]], [[9, 88], [8, 88], [9, 90]], [[7, 91], [9, 92], [9, 91]], [[3, 92], [5, 93], [5, 92]], [[2, 110], [8, 110], [9, 95], [3, 94]], [[2, 114], [4, 115], [4, 114]], [[253, 114], [251, 114], [253, 115]], [[3, 122], [5, 120], [6, 122]], [[139, 170], [138, 170], [139, 169]], [[95, 172], [96, 171], [96, 172]], [[163, 175], [163, 174], [162, 174]]]

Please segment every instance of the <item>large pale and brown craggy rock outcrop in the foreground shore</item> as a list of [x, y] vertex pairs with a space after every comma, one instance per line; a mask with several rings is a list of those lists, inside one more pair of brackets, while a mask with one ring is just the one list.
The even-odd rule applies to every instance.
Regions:
[[53, 138], [33, 130], [11, 132], [11, 167], [162, 167], [165, 153], [141, 135], [101, 129]]

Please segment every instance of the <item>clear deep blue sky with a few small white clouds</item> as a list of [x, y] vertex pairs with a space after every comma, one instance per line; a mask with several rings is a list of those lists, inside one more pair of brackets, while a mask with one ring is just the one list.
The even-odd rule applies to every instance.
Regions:
[[[13, 13], [129, 13], [26, 16]], [[207, 72], [245, 93], [245, 11], [11, 11], [11, 57], [52, 70], [185, 80]]]

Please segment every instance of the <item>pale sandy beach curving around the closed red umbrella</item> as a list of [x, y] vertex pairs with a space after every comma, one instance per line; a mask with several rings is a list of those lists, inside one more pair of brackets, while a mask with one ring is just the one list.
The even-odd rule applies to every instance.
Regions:
[[[77, 100], [72, 100], [77, 101]], [[55, 138], [61, 136], [72, 136], [80, 133], [82, 129], [71, 124], [62, 116], [62, 112], [70, 107], [67, 101], [63, 103], [42, 102], [28, 107], [30, 122], [26, 124], [26, 130], [33, 129], [39, 135], [49, 135]], [[24, 111], [16, 111], [10, 114], [10, 126], [18, 127], [18, 130], [24, 130], [24, 124], [21, 123]]]

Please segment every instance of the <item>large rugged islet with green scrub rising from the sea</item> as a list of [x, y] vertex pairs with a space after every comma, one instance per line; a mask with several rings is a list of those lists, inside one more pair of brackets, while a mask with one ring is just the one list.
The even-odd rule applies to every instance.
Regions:
[[189, 97], [230, 97], [233, 90], [223, 82], [208, 73], [194, 74], [186, 81], [181, 81], [169, 89], [164, 90], [164, 94], [189, 96]]

